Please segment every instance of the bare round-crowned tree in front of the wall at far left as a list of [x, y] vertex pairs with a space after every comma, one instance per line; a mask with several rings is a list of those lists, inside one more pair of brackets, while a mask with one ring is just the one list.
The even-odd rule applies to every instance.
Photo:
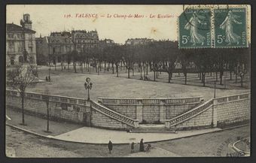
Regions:
[[22, 124], [25, 125], [24, 119], [24, 98], [27, 86], [35, 85], [36, 70], [32, 65], [17, 65], [15, 68], [7, 71], [7, 84], [12, 89], [16, 89], [21, 97]]

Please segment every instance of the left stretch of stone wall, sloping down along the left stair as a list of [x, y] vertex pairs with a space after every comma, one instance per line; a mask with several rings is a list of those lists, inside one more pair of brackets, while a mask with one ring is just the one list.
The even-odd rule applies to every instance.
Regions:
[[[24, 98], [24, 109], [27, 113], [37, 115], [47, 115], [47, 100], [49, 99], [50, 117], [54, 119], [64, 119], [71, 122], [78, 122], [84, 125], [99, 128], [112, 128], [126, 130], [131, 128], [117, 119], [106, 116], [100, 111], [91, 109], [89, 101], [82, 98], [70, 98], [56, 95], [42, 95], [26, 92]], [[20, 93], [6, 91], [6, 108], [21, 109]], [[84, 118], [90, 114], [90, 122]]]

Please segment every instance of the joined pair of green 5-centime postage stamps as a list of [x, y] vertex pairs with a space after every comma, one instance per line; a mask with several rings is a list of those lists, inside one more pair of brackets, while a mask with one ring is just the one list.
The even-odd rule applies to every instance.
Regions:
[[178, 17], [179, 48], [248, 47], [245, 7], [186, 8]]

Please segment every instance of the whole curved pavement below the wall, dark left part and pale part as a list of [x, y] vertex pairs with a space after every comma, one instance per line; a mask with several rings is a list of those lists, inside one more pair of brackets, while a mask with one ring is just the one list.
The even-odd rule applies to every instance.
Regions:
[[72, 141], [78, 143], [139, 143], [143, 138], [144, 142], [156, 142], [161, 140], [172, 140], [181, 137], [190, 137], [198, 134], [206, 134], [213, 131], [220, 131], [221, 128], [209, 128], [193, 131], [178, 131], [178, 134], [173, 133], [130, 133], [126, 131], [108, 130], [102, 128], [82, 127], [82, 125], [69, 122], [53, 122], [50, 121], [51, 133], [46, 133], [46, 120], [35, 116], [25, 115], [27, 125], [20, 125], [21, 113], [7, 109], [6, 122], [10, 125], [24, 128], [26, 131], [42, 134], [45, 137], [53, 137], [58, 140]]

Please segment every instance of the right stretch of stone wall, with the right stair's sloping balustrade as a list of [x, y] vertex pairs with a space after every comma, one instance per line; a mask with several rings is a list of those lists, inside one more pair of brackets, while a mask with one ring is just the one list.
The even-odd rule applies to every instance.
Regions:
[[187, 113], [181, 114], [181, 116], [174, 119], [167, 119], [166, 127], [168, 128], [171, 121], [177, 124], [171, 128], [180, 130], [183, 128], [224, 127], [225, 125], [237, 125], [250, 120], [250, 93], [215, 98], [211, 101], [212, 105], [206, 107], [203, 112], [200, 110], [197, 116], [193, 116], [193, 114], [196, 115], [197, 109], [200, 109], [200, 107], [194, 108], [192, 116], [188, 116], [186, 120], [179, 123], [174, 119], [182, 119], [181, 116], [186, 117]]

